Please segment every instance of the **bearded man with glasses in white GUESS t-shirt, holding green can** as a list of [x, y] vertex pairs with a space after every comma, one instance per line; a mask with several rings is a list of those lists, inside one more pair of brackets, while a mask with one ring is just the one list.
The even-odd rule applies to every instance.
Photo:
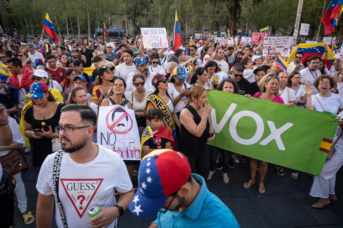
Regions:
[[[61, 109], [56, 132], [63, 152], [48, 155], [38, 175], [38, 228], [51, 226], [54, 199], [59, 228], [64, 222], [68, 227], [112, 228], [115, 218], [132, 200], [134, 191], [123, 160], [117, 153], [92, 143], [95, 123], [96, 114], [88, 106], [72, 104]], [[115, 189], [120, 193], [118, 202]], [[88, 210], [92, 206], [98, 206], [101, 212], [90, 218]]]

